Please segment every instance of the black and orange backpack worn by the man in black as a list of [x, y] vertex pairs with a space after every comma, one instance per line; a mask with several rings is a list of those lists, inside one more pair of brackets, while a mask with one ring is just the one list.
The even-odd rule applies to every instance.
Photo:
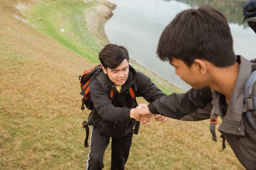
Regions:
[[[84, 147], [87, 148], [89, 147], [88, 145], [88, 137], [89, 137], [89, 126], [93, 125], [93, 122], [96, 119], [96, 114], [95, 114], [95, 108], [93, 106], [93, 101], [90, 97], [90, 83], [96, 79], [96, 77], [99, 75], [99, 73], [102, 71], [102, 64], [96, 65], [94, 68], [91, 68], [90, 70], [84, 71], [83, 75], [79, 75], [79, 80], [80, 80], [80, 87], [81, 87], [81, 92], [80, 94], [83, 96], [82, 97], [82, 105], [81, 105], [81, 110], [84, 110], [84, 105], [86, 106], [87, 109], [91, 110], [89, 116], [88, 116], [88, 121], [84, 121], [82, 123], [84, 129], [86, 130], [86, 138], [84, 140]], [[134, 107], [137, 107], [137, 101], [136, 101], [136, 93], [137, 93], [137, 84], [136, 82], [134, 83], [134, 90], [132, 87], [129, 89], [129, 93], [131, 97], [134, 99]], [[106, 94], [109, 95], [109, 98], [113, 99], [113, 89], [105, 83], [105, 91]], [[134, 128], [134, 134], [138, 134], [140, 127], [140, 122], [136, 121], [135, 128]]]

